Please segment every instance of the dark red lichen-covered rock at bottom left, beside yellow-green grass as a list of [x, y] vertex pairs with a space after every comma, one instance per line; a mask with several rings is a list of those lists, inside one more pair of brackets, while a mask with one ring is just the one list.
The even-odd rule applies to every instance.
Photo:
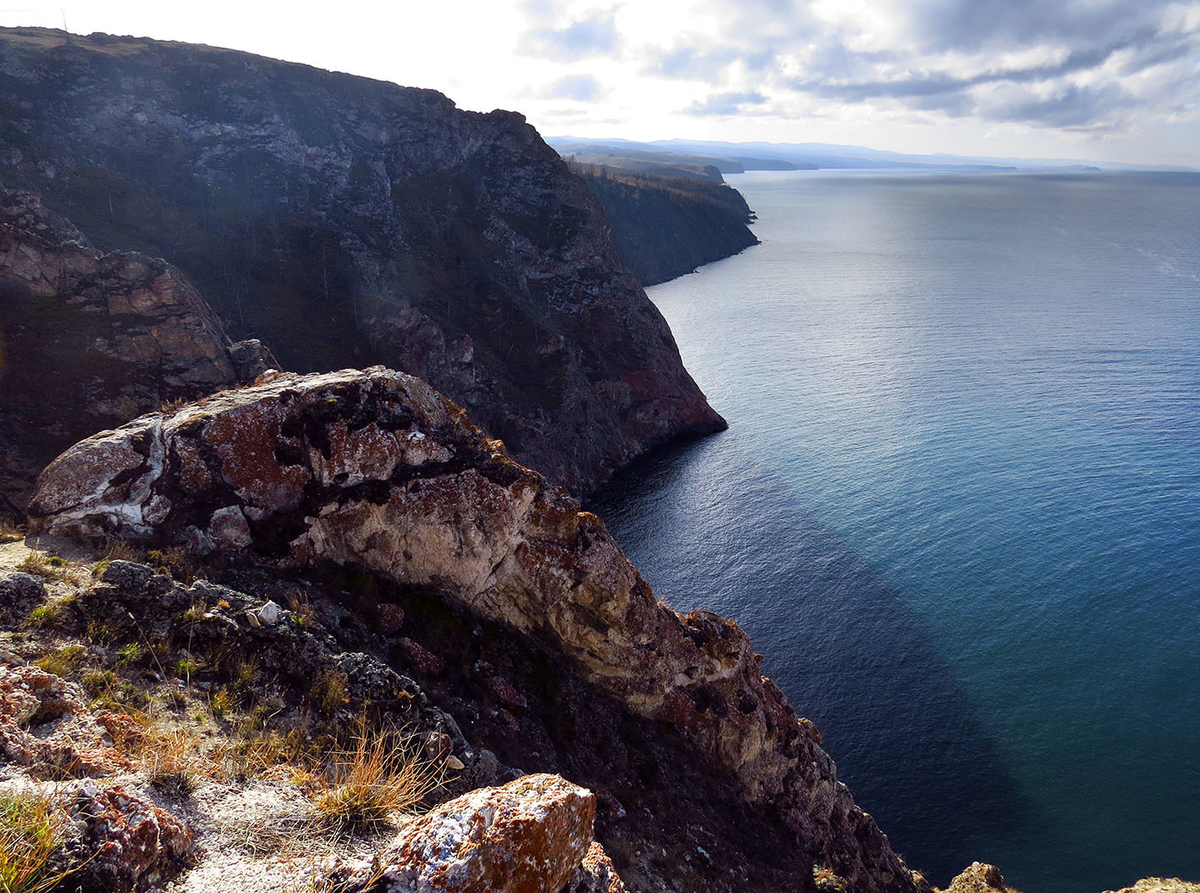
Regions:
[[86, 893], [142, 893], [162, 889], [187, 867], [192, 829], [178, 816], [120, 786], [84, 781], [68, 793], [74, 825], [62, 856], [67, 865], [83, 865], [72, 885]]

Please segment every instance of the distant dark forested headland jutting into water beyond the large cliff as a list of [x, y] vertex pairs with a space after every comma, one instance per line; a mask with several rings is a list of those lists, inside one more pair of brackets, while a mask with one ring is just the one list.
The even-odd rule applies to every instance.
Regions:
[[604, 205], [612, 242], [643, 286], [757, 245], [746, 226], [754, 215], [724, 182], [683, 180], [595, 166], [575, 166]]

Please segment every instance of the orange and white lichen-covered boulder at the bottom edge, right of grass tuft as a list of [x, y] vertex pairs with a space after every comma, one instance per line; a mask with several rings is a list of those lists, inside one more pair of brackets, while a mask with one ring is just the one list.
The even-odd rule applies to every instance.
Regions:
[[382, 870], [340, 880], [380, 893], [558, 893], [588, 853], [594, 819], [590, 791], [558, 775], [526, 775], [413, 820], [379, 853]]

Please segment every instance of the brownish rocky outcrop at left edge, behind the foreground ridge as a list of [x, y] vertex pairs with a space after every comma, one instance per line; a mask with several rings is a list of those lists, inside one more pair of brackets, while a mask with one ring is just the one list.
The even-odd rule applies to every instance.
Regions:
[[0, 190], [0, 513], [24, 516], [38, 472], [82, 437], [268, 365], [169, 264], [103, 254], [38, 196]]

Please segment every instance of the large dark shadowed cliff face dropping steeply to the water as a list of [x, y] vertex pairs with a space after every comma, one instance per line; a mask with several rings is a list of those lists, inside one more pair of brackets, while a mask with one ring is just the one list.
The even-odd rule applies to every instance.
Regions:
[[0, 180], [169, 258], [284, 367], [385, 362], [588, 489], [724, 425], [521, 115], [242, 53], [0, 31]]

